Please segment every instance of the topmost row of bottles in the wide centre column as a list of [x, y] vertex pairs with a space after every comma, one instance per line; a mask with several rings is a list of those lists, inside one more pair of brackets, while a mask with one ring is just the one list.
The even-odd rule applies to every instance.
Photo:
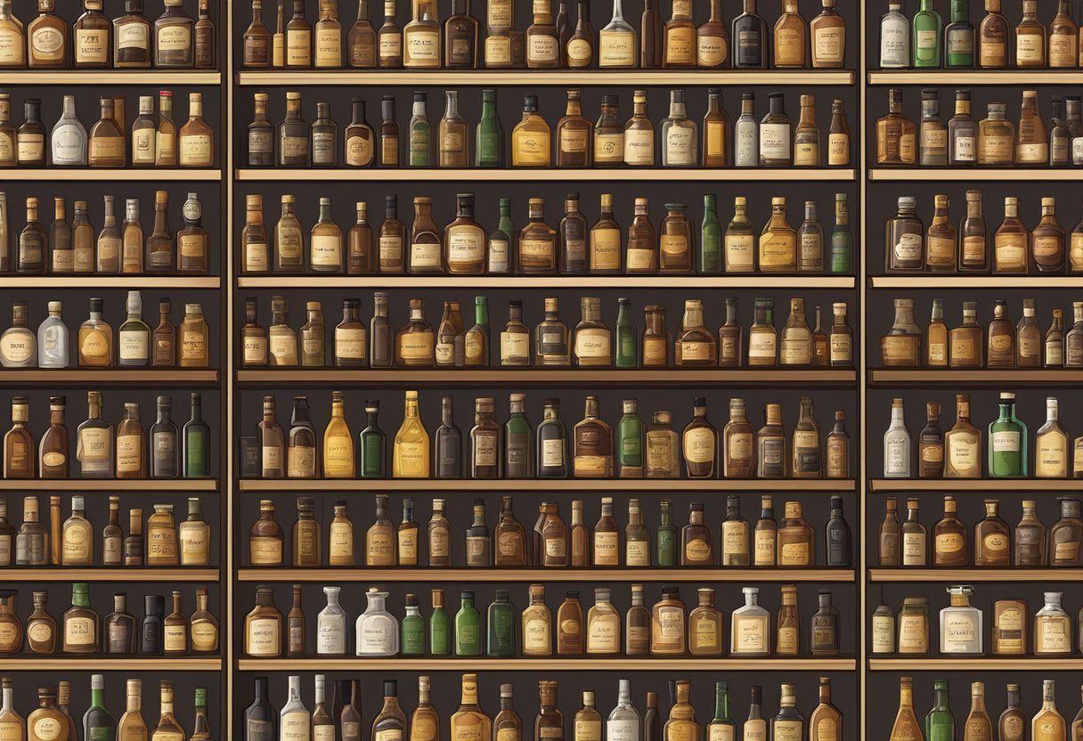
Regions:
[[[533, 23], [525, 31], [516, 29], [513, 0], [490, 0], [484, 25], [471, 14], [468, 0], [452, 2], [443, 23], [435, 0], [413, 2], [413, 17], [403, 27], [395, 21], [395, 0], [384, 0], [379, 28], [373, 25], [366, 0], [358, 2], [356, 21], [348, 28], [339, 20], [338, 0], [319, 0], [315, 25], [304, 17], [303, 0], [293, 0], [288, 20], [286, 3], [278, 2], [273, 32], [263, 22], [262, 0], [252, 0], [242, 64], [292, 69], [762, 69], [769, 62], [779, 69], [843, 67], [846, 21], [836, 12], [835, 0], [821, 3], [821, 12], [806, 21], [797, 0], [786, 0], [769, 34], [767, 23], [756, 12], [756, 0], [746, 0], [744, 12], [731, 21], [729, 30], [721, 0], [677, 0], [665, 23], [657, 4], [648, 0], [637, 34], [617, 0], [612, 18], [596, 35], [586, 0], [577, 3], [577, 18], [567, 0], [560, 0], [556, 12], [552, 0], [537, 0], [532, 5]], [[702, 17], [704, 11], [707, 17], [697, 26], [695, 16]]]

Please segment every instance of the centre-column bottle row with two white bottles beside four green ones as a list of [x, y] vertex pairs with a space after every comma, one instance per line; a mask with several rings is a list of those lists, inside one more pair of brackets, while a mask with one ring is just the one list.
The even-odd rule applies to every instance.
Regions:
[[[837, 655], [839, 612], [830, 589], [819, 590], [819, 607], [807, 632], [800, 627], [797, 587], [782, 585], [782, 607], [771, 630], [771, 614], [759, 606], [758, 587], [743, 587], [745, 603], [733, 610], [729, 650], [722, 637], [723, 613], [715, 607], [715, 590], [697, 589], [699, 606], [689, 610], [680, 589], [663, 585], [662, 599], [643, 603], [643, 585], [632, 584], [631, 607], [622, 616], [610, 601], [609, 587], [596, 587], [595, 603], [584, 614], [578, 592], [570, 592], [556, 616], [545, 602], [545, 585], [530, 585], [530, 604], [517, 616], [508, 589], [482, 611], [474, 592], [459, 594], [454, 618], [444, 609], [442, 589], [432, 590], [432, 612], [421, 614], [417, 595], [405, 596], [401, 620], [387, 609], [389, 593], [369, 587], [366, 608], [351, 636], [349, 616], [339, 602], [341, 587], [325, 586], [327, 606], [316, 618], [316, 646], [305, 645], [303, 589], [293, 586], [293, 606], [284, 618], [274, 590], [256, 588], [256, 604], [245, 616], [244, 652], [250, 656], [345, 655], [354, 645], [358, 656], [552, 656], [552, 655], [694, 655], [768, 656]], [[622, 620], [623, 618], [623, 620]], [[521, 626], [517, 625], [521, 623]], [[624, 627], [622, 627], [622, 624]], [[806, 640], [801, 636], [806, 636]], [[773, 651], [772, 651], [773, 646]]]

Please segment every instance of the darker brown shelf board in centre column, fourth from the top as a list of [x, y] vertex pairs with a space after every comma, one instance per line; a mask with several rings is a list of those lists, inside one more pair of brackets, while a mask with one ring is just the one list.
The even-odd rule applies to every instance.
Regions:
[[[237, 381], [242, 384], [435, 384], [438, 386], [488, 385], [488, 384], [536, 384], [536, 385], [589, 385], [596, 384], [652, 384], [660, 386], [687, 386], [688, 384], [784, 384], [805, 386], [808, 384], [854, 384], [856, 370], [726, 370], [680, 369], [634, 370], [634, 369], [575, 369], [557, 370], [545, 368], [522, 368], [503, 370], [475, 370], [473, 368], [409, 369], [389, 368], [387, 370], [345, 370], [338, 368], [238, 370]], [[1083, 378], [1083, 373], [1080, 375]]]

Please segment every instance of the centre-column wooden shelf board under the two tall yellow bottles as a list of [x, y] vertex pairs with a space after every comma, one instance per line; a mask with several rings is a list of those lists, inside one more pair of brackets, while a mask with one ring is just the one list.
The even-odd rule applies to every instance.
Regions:
[[[1083, 484], [1083, 479], [1080, 480]], [[852, 492], [853, 479], [240, 479], [242, 492]]]

